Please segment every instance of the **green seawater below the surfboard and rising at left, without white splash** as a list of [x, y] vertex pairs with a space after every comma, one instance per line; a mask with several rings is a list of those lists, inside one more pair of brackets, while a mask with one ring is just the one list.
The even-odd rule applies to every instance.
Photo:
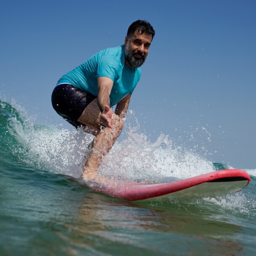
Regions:
[[248, 170], [248, 187], [227, 197], [154, 205], [117, 200], [58, 174], [54, 150], [35, 153], [38, 129], [10, 104], [1, 106], [1, 256], [256, 254], [255, 170]]

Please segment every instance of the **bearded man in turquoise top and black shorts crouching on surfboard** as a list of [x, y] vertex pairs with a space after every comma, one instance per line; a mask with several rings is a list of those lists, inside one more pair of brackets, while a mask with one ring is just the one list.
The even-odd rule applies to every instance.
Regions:
[[[96, 171], [123, 129], [131, 94], [141, 76], [155, 35], [147, 21], [128, 28], [124, 45], [93, 55], [58, 81], [52, 94], [56, 112], [75, 127], [95, 135], [82, 178], [100, 181]], [[111, 107], [116, 105], [115, 113]]]

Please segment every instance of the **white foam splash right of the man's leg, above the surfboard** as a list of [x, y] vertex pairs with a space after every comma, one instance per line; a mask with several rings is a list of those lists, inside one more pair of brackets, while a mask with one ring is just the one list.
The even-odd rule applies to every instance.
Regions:
[[161, 134], [151, 142], [145, 134], [131, 130], [104, 158], [100, 171], [115, 178], [153, 182], [185, 179], [214, 171], [214, 167], [191, 150], [175, 145], [168, 136]]

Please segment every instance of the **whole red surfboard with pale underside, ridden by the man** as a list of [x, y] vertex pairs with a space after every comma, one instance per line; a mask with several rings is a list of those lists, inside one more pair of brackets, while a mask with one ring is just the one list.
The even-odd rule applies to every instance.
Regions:
[[238, 192], [250, 182], [248, 173], [238, 169], [220, 170], [168, 183], [110, 181], [85, 186], [111, 197], [142, 201], [152, 198], [216, 197]]

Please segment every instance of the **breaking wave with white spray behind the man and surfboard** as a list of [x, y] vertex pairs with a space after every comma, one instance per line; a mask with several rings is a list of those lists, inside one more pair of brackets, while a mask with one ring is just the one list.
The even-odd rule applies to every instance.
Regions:
[[[138, 127], [125, 128], [99, 168], [112, 179], [157, 182], [185, 179], [228, 168], [181, 147], [167, 135], [154, 142]], [[15, 102], [0, 101], [0, 152], [2, 161], [21, 163], [30, 168], [79, 177], [93, 136], [82, 129], [63, 129], [55, 125], [35, 125]]]

